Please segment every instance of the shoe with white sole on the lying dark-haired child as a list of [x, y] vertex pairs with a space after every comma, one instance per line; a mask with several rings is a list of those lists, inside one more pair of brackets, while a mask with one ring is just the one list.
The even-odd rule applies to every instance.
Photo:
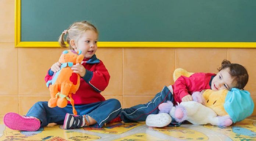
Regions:
[[167, 113], [148, 115], [146, 125], [152, 127], [164, 127], [171, 123], [171, 116]]

